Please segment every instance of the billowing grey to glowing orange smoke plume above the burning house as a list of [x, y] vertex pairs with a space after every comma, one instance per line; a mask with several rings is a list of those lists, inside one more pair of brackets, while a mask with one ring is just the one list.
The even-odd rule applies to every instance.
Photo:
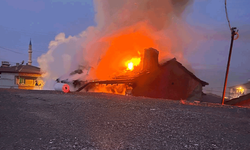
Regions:
[[[81, 67], [88, 78], [109, 79], [124, 62], [140, 57], [145, 48], [160, 51], [160, 60], [183, 58], [192, 40], [182, 16], [192, 0], [94, 0], [96, 26], [75, 36], [60, 33], [38, 58], [45, 79], [56, 79]], [[84, 77], [86, 78], [86, 77]]]

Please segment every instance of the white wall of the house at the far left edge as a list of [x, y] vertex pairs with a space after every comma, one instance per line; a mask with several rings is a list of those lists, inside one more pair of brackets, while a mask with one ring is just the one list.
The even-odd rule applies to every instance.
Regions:
[[17, 73], [1, 73], [0, 74], [0, 88], [18, 88], [15, 84], [15, 76]]

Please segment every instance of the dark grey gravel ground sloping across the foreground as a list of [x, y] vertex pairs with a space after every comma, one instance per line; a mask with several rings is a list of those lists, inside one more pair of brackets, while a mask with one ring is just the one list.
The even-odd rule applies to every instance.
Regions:
[[250, 109], [0, 89], [0, 149], [250, 149]]

